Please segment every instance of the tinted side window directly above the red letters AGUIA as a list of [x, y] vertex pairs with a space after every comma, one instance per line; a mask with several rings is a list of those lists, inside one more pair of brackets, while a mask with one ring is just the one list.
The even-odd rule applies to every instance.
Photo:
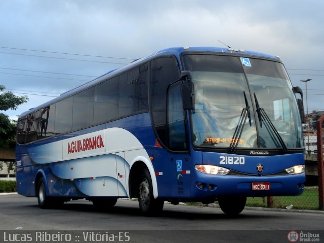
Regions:
[[78, 130], [93, 124], [95, 88], [73, 95], [72, 130]]

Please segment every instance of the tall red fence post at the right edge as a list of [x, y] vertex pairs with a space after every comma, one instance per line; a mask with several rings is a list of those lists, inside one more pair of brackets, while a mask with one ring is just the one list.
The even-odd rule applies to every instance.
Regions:
[[316, 121], [317, 130], [317, 174], [318, 174], [318, 204], [319, 209], [324, 209], [324, 165], [323, 165], [323, 136], [322, 136], [322, 122], [324, 115]]

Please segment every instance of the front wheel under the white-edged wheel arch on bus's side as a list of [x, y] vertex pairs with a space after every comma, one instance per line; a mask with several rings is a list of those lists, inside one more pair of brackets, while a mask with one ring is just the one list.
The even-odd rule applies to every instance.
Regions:
[[163, 210], [164, 200], [155, 199], [153, 196], [153, 186], [148, 169], [144, 169], [139, 180], [138, 203], [140, 211], [145, 216], [152, 216]]

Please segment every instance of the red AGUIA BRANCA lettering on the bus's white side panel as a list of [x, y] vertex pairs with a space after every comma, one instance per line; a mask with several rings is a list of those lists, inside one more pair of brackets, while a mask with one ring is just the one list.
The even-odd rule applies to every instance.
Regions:
[[87, 150], [100, 149], [105, 147], [101, 135], [84, 138], [83, 140], [72, 141], [67, 144], [67, 153], [73, 154]]

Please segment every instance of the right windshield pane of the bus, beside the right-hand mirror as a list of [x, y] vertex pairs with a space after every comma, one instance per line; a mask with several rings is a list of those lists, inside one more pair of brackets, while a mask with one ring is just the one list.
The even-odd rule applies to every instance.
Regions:
[[[260, 109], [263, 109], [280, 134], [287, 148], [303, 147], [301, 122], [284, 65], [278, 62], [251, 59], [251, 66], [244, 66]], [[281, 148], [268, 122], [258, 122], [261, 148]]]

